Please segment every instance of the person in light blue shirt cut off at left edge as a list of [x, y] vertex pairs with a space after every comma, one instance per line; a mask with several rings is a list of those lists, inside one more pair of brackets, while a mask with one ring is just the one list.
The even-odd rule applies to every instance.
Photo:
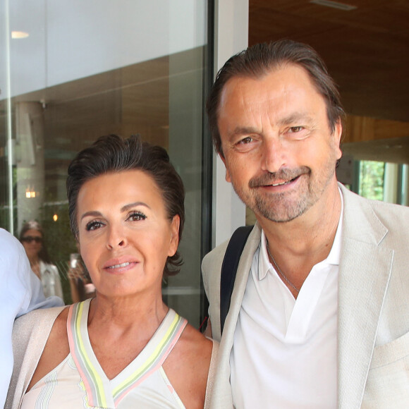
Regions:
[[13, 370], [14, 319], [36, 308], [56, 307], [63, 302], [59, 297], [44, 298], [42, 284], [30, 269], [23, 245], [3, 228], [0, 228], [0, 281], [0, 408], [3, 408]]

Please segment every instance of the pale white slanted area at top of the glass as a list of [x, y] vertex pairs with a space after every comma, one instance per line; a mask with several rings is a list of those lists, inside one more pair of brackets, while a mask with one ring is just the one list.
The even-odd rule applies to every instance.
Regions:
[[[0, 0], [1, 27], [30, 34], [9, 41], [11, 95], [201, 46], [205, 13], [204, 0]], [[0, 63], [1, 99], [7, 71]]]

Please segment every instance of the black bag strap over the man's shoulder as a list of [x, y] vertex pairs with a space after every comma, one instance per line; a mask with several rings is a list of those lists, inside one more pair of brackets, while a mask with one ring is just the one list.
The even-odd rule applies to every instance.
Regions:
[[254, 226], [242, 226], [236, 229], [228, 242], [223, 264], [221, 264], [220, 276], [220, 331], [223, 333], [224, 322], [230, 308], [231, 293], [233, 293], [234, 281], [238, 262], [247, 242], [250, 231]]

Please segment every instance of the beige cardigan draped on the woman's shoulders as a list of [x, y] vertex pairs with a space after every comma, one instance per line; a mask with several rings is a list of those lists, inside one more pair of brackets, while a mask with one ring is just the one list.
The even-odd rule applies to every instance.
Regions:
[[[13, 326], [13, 375], [8, 387], [4, 409], [20, 408], [54, 321], [63, 309], [64, 307], [55, 307], [47, 310], [35, 310], [16, 319]], [[209, 396], [213, 388], [218, 350], [219, 343], [213, 341], [204, 409], [209, 407]]]

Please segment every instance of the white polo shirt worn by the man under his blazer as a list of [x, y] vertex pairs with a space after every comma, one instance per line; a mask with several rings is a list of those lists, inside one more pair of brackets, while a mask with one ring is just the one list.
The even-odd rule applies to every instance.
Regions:
[[230, 356], [235, 408], [336, 408], [341, 229], [342, 209], [328, 257], [296, 300], [269, 262], [262, 231]]

